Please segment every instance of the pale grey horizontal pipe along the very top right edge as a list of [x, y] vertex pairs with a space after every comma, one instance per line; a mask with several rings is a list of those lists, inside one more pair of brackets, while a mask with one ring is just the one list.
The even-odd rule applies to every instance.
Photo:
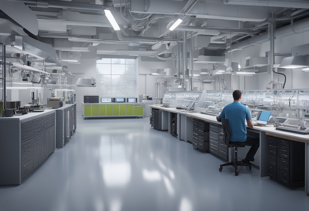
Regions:
[[224, 4], [248, 5], [248, 6], [273, 6], [273, 7], [290, 7], [290, 8], [307, 8], [307, 0], [225, 0]]

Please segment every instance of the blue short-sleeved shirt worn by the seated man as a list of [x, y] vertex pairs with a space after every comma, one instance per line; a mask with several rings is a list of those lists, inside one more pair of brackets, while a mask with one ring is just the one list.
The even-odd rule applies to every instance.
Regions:
[[248, 107], [239, 101], [234, 101], [223, 108], [219, 118], [229, 119], [230, 141], [245, 142], [247, 140], [245, 120], [251, 120]]

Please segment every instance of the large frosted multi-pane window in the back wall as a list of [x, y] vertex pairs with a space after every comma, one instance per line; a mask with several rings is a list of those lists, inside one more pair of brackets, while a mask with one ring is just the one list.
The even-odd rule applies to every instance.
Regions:
[[135, 59], [101, 59], [96, 68], [100, 97], [136, 97]]

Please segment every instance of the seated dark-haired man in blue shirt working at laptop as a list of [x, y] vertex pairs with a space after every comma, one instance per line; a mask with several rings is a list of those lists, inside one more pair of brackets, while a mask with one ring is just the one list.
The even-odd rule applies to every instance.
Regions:
[[250, 164], [250, 161], [254, 161], [254, 155], [260, 147], [260, 140], [259, 138], [247, 135], [245, 119], [247, 120], [247, 126], [251, 129], [253, 129], [253, 126], [257, 125], [257, 123], [251, 121], [251, 114], [248, 107], [240, 103], [241, 91], [235, 90], [233, 92], [233, 98], [234, 102], [223, 108], [217, 120], [220, 121], [221, 118], [229, 119], [231, 142], [242, 142], [247, 146], [252, 146], [246, 158], [242, 160], [243, 163]]

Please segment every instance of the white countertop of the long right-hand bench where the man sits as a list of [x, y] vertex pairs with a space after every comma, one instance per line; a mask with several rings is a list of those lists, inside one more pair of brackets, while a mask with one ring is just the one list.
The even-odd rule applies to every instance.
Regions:
[[[183, 111], [178, 110], [176, 108], [165, 108], [165, 107], [161, 107], [161, 106], [162, 105], [150, 105], [150, 107], [155, 108], [155, 109], [161, 109], [161, 110], [164, 110], [164, 111], [169, 111], [169, 112], [173, 112], [173, 113], [177, 113], [177, 114], [184, 114], [184, 115], [190, 116], [192, 118], [197, 117], [198, 119], [204, 120], [206, 122], [216, 123], [216, 124], [221, 125], [221, 122], [218, 122], [217, 118], [215, 116], [210, 116], [210, 115], [207, 115], [207, 114], [201, 114], [201, 113], [198, 113], [198, 112], [197, 113], [183, 112]], [[294, 138], [298, 138], [298, 139], [309, 140], [309, 134], [304, 135], [304, 134], [287, 132], [287, 131], [283, 131], [283, 130], [276, 130], [276, 128], [273, 127], [273, 125], [253, 126], [253, 129], [264, 131], [264, 132], [269, 132], [269, 133], [273, 133], [273, 134], [290, 136], [290, 137], [294, 137]]]

